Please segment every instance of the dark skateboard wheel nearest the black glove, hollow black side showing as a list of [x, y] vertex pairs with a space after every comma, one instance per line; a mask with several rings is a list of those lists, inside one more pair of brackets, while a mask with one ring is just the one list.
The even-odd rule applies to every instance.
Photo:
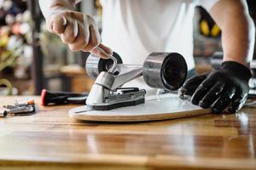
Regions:
[[177, 53], [152, 53], [143, 64], [143, 78], [151, 88], [177, 90], [186, 80], [188, 67]]

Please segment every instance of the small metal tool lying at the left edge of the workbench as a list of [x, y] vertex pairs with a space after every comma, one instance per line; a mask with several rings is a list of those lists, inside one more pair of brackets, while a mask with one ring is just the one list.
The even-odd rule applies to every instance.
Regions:
[[33, 99], [24, 102], [15, 101], [14, 105], [3, 105], [4, 110], [0, 110], [0, 116], [27, 116], [36, 112], [35, 102]]

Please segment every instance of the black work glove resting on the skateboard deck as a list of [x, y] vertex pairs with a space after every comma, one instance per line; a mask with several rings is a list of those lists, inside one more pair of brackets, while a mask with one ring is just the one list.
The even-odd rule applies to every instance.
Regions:
[[235, 113], [247, 100], [248, 81], [251, 77], [251, 71], [246, 66], [225, 61], [219, 71], [191, 77], [180, 91], [181, 94], [192, 96], [191, 102], [194, 105], [208, 108], [214, 104], [214, 113], [220, 113], [226, 108], [230, 113]]

